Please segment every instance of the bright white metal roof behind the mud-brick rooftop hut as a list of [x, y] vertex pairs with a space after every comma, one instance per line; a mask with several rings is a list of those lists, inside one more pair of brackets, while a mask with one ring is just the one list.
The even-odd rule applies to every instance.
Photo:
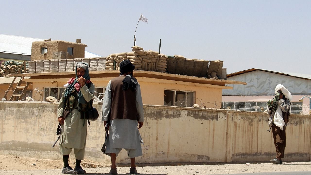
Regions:
[[[34, 41], [43, 41], [39, 38], [0, 34], [0, 52], [10, 54], [31, 55], [31, 44]], [[101, 57], [100, 55], [84, 51], [84, 58]]]

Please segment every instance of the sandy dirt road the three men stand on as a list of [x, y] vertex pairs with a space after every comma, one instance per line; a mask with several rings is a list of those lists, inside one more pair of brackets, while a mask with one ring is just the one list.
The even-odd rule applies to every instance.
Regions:
[[[74, 166], [74, 159], [70, 164]], [[259, 173], [259, 172], [295, 172], [310, 171], [311, 162], [284, 162], [282, 165], [272, 163], [245, 163], [221, 164], [221, 165], [187, 165], [187, 166], [144, 166], [137, 167], [138, 173], [151, 175], [200, 175], [200, 174], [235, 174], [235, 173]], [[59, 175], [63, 166], [62, 160], [19, 158], [15, 155], [0, 155], [0, 174], [5, 175]], [[86, 174], [108, 174], [109, 165], [97, 162], [82, 161], [82, 167]], [[101, 167], [101, 168], [100, 168]], [[119, 174], [128, 174], [129, 167], [118, 167]]]

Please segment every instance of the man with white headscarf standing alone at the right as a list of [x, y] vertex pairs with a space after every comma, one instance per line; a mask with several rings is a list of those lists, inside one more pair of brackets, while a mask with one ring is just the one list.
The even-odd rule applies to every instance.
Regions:
[[292, 95], [281, 84], [276, 86], [275, 93], [274, 99], [269, 100], [267, 103], [269, 107], [268, 113], [270, 115], [268, 124], [271, 127], [276, 148], [276, 158], [270, 160], [270, 162], [282, 164], [286, 146], [285, 129], [290, 116], [289, 108]]

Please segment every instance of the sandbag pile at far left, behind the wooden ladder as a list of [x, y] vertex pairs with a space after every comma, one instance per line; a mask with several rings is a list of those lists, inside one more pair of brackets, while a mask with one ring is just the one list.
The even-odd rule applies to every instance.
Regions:
[[[1, 63], [0, 67], [0, 77], [6, 77], [9, 74], [17, 73], [17, 71], [21, 68], [21, 62], [18, 61], [3, 61]], [[22, 67], [22, 69], [24, 66]], [[26, 72], [28, 71], [28, 63], [26, 63]], [[22, 70], [22, 73], [25, 73], [24, 70]]]

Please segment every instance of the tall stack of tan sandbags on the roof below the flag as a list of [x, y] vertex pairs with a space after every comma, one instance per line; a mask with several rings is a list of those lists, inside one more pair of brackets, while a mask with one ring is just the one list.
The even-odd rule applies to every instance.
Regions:
[[137, 45], [132, 47], [132, 52], [123, 52], [119, 54], [110, 54], [106, 58], [106, 70], [118, 70], [121, 61], [128, 59], [135, 65], [135, 70], [148, 70], [166, 72], [165, 54], [153, 50], [146, 50]]

